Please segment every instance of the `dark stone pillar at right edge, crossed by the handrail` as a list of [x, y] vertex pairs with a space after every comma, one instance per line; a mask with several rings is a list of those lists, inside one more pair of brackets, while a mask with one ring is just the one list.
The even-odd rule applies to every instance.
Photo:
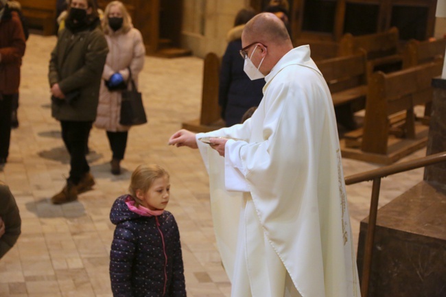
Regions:
[[[434, 87], [434, 96], [426, 155], [446, 151], [446, 79], [434, 78], [432, 86]], [[424, 180], [446, 185], [446, 163], [425, 167]]]

